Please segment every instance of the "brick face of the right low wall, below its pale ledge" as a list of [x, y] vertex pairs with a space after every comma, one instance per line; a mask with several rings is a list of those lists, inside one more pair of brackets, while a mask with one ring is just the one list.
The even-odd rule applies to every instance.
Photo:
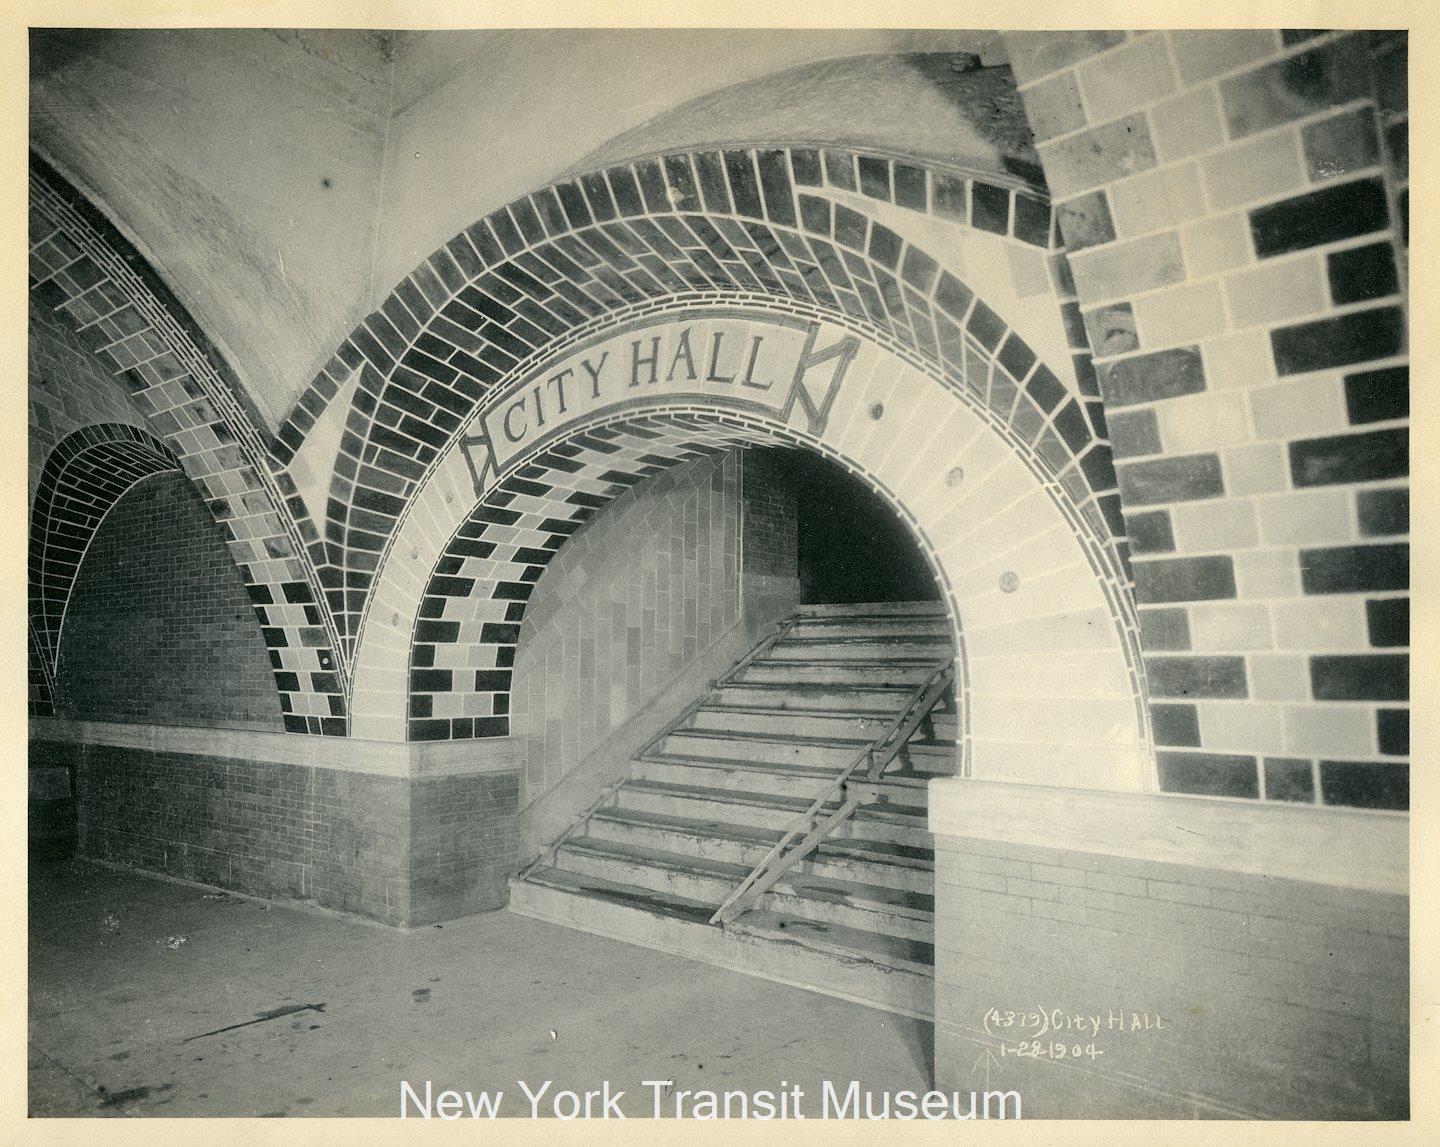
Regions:
[[936, 884], [942, 1087], [1015, 1088], [1027, 1117], [1407, 1114], [1403, 895], [960, 836]]

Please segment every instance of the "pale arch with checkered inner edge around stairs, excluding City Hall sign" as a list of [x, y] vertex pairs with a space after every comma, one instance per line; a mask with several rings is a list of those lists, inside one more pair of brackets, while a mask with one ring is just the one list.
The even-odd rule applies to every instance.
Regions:
[[[805, 325], [795, 314], [802, 308], [773, 301], [769, 315], [757, 301], [737, 308], [726, 299], [721, 309], [742, 321]], [[569, 361], [638, 328], [687, 327], [696, 315], [693, 305], [671, 301], [619, 331], [605, 324], [602, 334], [557, 354]], [[837, 337], [834, 327], [827, 340]], [[400, 714], [399, 734], [410, 738], [505, 735], [520, 620], [564, 540], [611, 498], [665, 466], [779, 439], [863, 476], [906, 518], [929, 556], [956, 623], [963, 679], [973, 685], [962, 681], [959, 691], [971, 731], [966, 761], [986, 776], [1056, 783], [1064, 774], [1079, 784], [1143, 787], [1145, 686], [1109, 541], [1090, 528], [1054, 473], [1017, 449], [1009, 425], [903, 350], [861, 345], [855, 381], [837, 391], [824, 426], [724, 402], [626, 394], [619, 409], [566, 423], [550, 432], [559, 438], [540, 440], [498, 471], [468, 469], [464, 448], [446, 450], [382, 567], [356, 665], [356, 735], [396, 735], [393, 712]], [[485, 414], [527, 393], [560, 361], [552, 357], [543, 370], [514, 380]], [[999, 374], [991, 368], [986, 377]], [[890, 404], [891, 394], [904, 400]], [[484, 414], [468, 423], [465, 440], [474, 443], [482, 425]], [[488, 485], [478, 499], [467, 498], [481, 472]], [[1015, 579], [1002, 576], [1009, 570], [1020, 571], [1018, 593]], [[1044, 681], [1031, 689], [1025, 674]], [[1011, 711], [1022, 712], [1012, 720]], [[1066, 753], [1043, 733], [1030, 740], [1018, 734], [1045, 724], [1051, 712], [1063, 712], [1073, 734]], [[1058, 757], [1066, 760], [1056, 764]]]

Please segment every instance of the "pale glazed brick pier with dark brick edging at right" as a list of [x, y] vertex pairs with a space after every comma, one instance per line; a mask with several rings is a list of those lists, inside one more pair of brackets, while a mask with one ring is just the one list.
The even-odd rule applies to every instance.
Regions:
[[1162, 789], [1408, 806], [1404, 33], [1009, 33]]

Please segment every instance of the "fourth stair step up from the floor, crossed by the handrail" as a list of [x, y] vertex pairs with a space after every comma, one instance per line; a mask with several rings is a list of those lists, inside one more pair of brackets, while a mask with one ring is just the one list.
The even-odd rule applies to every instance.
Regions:
[[[616, 793], [616, 810], [655, 813], [696, 820], [710, 817], [779, 833], [805, 812], [811, 800], [717, 790], [693, 784], [629, 780]], [[837, 806], [831, 806], [837, 807]], [[929, 849], [924, 809], [914, 804], [861, 804], [852, 817], [835, 829], [832, 840], [865, 840]]]

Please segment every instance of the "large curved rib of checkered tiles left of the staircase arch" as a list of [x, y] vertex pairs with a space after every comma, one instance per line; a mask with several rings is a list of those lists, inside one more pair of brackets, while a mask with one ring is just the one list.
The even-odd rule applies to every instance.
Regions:
[[305, 550], [314, 527], [297, 512], [294, 484], [271, 472], [268, 443], [223, 363], [145, 272], [128, 242], [32, 155], [33, 298], [79, 331], [199, 486], [255, 603], [287, 731], [344, 735], [344, 686]]

